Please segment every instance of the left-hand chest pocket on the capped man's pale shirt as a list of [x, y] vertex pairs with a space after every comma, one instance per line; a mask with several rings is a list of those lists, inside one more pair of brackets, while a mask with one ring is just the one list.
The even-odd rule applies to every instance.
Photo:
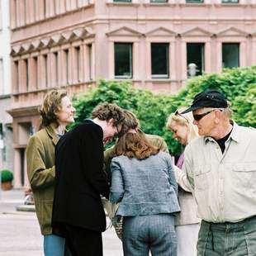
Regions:
[[209, 186], [211, 164], [198, 166], [195, 170], [194, 183], [196, 190], [205, 190]]

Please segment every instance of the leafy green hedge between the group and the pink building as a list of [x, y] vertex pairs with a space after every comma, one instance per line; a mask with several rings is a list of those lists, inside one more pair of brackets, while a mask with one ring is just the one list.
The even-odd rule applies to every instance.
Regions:
[[178, 107], [189, 106], [193, 97], [206, 88], [214, 88], [225, 93], [232, 103], [233, 117], [240, 125], [256, 127], [255, 66], [224, 69], [222, 73], [210, 73], [189, 79], [186, 87], [178, 95], [155, 94], [134, 88], [127, 80], [101, 80], [97, 83], [97, 88], [73, 98], [73, 105], [77, 110], [76, 123], [73, 126], [87, 118], [98, 103], [116, 103], [135, 113], [145, 133], [163, 136], [171, 153], [179, 154], [183, 146], [173, 140], [172, 133], [165, 128], [167, 117]]

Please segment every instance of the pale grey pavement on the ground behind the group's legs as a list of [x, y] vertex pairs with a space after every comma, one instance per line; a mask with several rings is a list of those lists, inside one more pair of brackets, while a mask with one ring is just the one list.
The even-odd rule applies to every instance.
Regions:
[[[0, 256], [44, 256], [36, 214], [16, 211], [22, 203], [21, 190], [0, 191]], [[103, 249], [104, 256], [123, 255], [114, 228], [103, 233]]]

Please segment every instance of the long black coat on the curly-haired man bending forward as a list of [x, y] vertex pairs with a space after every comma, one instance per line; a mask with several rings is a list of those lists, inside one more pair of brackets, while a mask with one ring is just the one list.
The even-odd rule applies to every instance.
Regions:
[[54, 230], [62, 224], [106, 230], [100, 195], [108, 198], [109, 185], [103, 173], [102, 139], [102, 127], [88, 120], [63, 135], [56, 145]]

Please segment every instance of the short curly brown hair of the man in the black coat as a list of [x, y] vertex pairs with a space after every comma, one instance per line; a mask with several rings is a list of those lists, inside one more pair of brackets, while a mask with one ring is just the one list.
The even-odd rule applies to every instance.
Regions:
[[97, 105], [97, 107], [94, 107], [91, 118], [98, 118], [102, 121], [108, 121], [112, 118], [113, 125], [118, 126], [124, 120], [124, 112], [121, 107], [118, 107], [116, 104], [103, 102], [102, 104]]

